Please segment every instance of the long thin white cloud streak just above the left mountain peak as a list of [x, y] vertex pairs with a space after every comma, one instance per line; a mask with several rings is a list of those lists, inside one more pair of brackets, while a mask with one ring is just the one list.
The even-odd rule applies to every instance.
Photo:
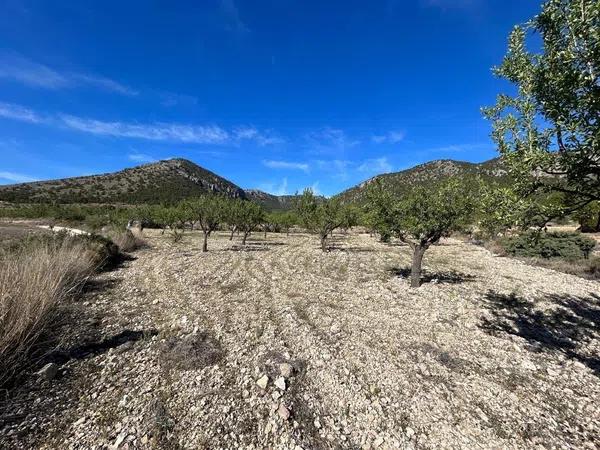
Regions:
[[60, 118], [62, 123], [68, 128], [105, 136], [195, 144], [223, 144], [230, 137], [226, 130], [216, 125], [181, 125], [160, 122], [152, 124], [104, 122], [70, 115], [62, 115]]

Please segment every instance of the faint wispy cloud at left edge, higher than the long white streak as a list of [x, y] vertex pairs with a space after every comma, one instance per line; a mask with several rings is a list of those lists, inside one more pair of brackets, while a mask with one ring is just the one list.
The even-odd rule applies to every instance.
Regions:
[[121, 95], [138, 94], [136, 90], [110, 78], [76, 72], [60, 73], [12, 52], [0, 53], [0, 78], [44, 89], [91, 86]]

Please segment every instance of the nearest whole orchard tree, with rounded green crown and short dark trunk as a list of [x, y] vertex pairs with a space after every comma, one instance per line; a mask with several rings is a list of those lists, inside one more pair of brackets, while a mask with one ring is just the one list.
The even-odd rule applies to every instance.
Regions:
[[389, 232], [413, 251], [411, 287], [421, 285], [425, 251], [442, 236], [465, 224], [474, 211], [473, 193], [456, 179], [437, 186], [417, 186], [401, 198], [385, 192], [370, 194], [369, 208], [381, 232]]

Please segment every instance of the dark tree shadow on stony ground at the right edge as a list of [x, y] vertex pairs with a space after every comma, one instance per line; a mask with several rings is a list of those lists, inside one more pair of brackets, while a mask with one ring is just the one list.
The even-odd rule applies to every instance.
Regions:
[[[519, 336], [534, 352], [561, 352], [579, 361], [600, 377], [600, 356], [585, 352], [586, 344], [600, 338], [600, 296], [546, 295], [528, 301], [515, 294], [488, 291], [484, 297], [491, 318], [483, 318], [480, 328], [498, 336]], [[550, 303], [542, 311], [536, 303]]]

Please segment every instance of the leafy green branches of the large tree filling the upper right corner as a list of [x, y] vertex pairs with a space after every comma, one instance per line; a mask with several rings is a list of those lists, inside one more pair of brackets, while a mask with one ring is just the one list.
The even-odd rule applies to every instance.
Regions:
[[[549, 0], [509, 38], [497, 76], [517, 87], [484, 115], [521, 196], [560, 192], [549, 220], [600, 200], [600, 3]], [[537, 34], [542, 51], [527, 50]]]

